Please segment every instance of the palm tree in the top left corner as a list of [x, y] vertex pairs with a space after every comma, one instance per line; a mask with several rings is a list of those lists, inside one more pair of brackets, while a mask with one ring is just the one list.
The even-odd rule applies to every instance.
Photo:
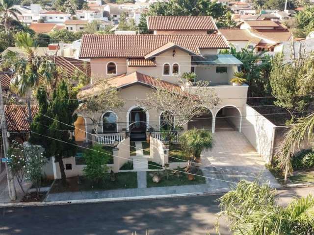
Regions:
[[14, 7], [13, 0], [0, 0], [0, 15], [4, 21], [5, 32], [9, 32], [9, 23], [12, 18], [18, 20], [17, 14], [21, 15], [21, 12]]

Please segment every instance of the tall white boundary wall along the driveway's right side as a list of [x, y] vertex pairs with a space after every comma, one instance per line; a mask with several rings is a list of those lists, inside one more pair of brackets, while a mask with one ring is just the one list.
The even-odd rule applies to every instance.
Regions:
[[271, 121], [263, 117], [251, 106], [246, 105], [242, 133], [267, 164], [272, 159], [275, 128], [276, 125]]

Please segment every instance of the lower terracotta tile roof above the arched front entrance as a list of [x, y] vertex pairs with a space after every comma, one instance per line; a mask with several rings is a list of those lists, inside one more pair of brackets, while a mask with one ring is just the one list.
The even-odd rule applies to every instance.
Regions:
[[166, 82], [163, 80], [158, 80], [152, 76], [135, 71], [128, 75], [121, 74], [121, 75], [112, 77], [110, 79], [105, 78], [92, 85], [87, 85], [83, 87], [81, 91], [78, 93], [78, 98], [84, 99], [91, 95], [100, 94], [101, 92], [103, 92], [104, 84], [107, 84], [108, 86], [114, 87], [117, 89], [121, 89], [123, 87], [130, 86], [133, 84], [143, 84], [149, 87], [161, 86], [169, 90], [177, 90], [179, 92], [182, 92], [180, 86], [176, 84]]

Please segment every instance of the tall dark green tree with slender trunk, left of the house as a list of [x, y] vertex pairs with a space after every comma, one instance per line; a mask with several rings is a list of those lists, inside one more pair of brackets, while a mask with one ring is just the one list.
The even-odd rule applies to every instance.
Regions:
[[54, 156], [60, 167], [62, 184], [66, 185], [63, 158], [76, 154], [77, 146], [70, 138], [70, 132], [74, 131], [73, 125], [77, 119], [74, 112], [78, 108], [78, 100], [76, 94], [69, 93], [64, 80], [53, 91], [51, 99], [48, 98], [45, 89], [38, 90], [39, 113], [30, 126], [32, 135], [29, 141], [43, 146], [47, 158]]

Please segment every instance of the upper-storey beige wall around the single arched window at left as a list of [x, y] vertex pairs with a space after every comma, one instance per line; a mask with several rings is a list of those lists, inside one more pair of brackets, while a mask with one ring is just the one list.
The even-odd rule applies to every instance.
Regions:
[[90, 59], [91, 79], [92, 83], [96, 82], [99, 78], [106, 78], [116, 76], [114, 74], [106, 74], [106, 65], [109, 62], [114, 62], [117, 65], [117, 74], [127, 72], [127, 59], [126, 58], [97, 58]]

